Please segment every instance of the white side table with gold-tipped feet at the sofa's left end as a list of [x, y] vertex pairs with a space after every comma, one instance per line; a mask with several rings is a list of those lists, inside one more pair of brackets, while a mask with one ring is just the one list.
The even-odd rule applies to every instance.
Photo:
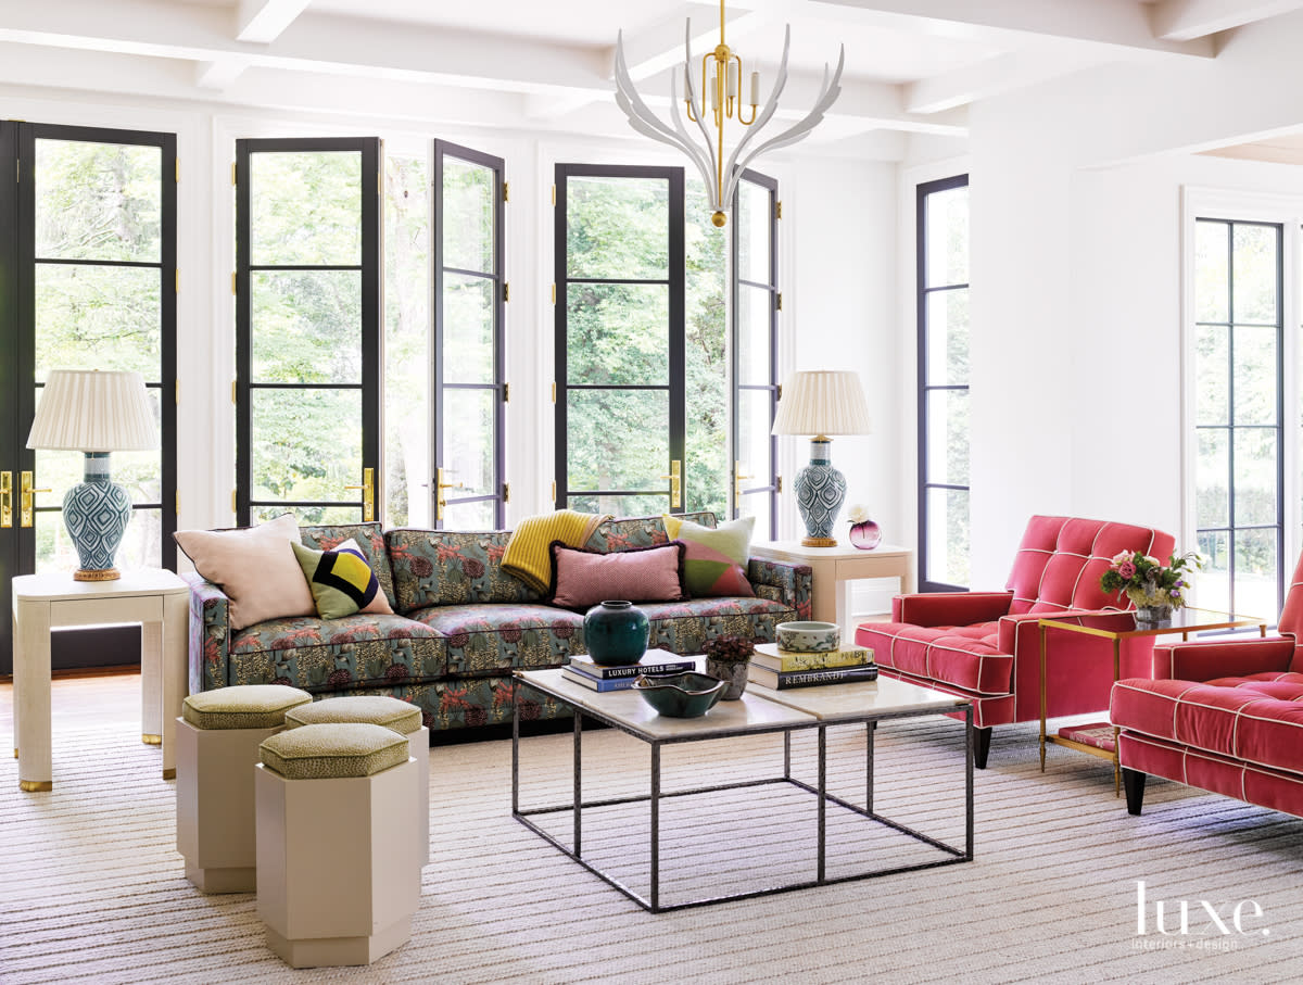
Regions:
[[13, 736], [18, 788], [53, 790], [50, 736], [50, 632], [103, 623], [141, 624], [141, 732], [163, 747], [163, 779], [176, 777], [176, 717], [185, 698], [190, 588], [171, 571], [125, 571], [115, 581], [72, 575], [13, 580]]

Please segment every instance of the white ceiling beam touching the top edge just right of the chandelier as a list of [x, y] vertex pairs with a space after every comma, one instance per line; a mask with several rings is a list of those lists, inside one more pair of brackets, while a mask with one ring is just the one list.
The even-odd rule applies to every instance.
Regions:
[[1110, 56], [1216, 57], [1210, 38], [1156, 38], [1144, 4], [1136, 0], [808, 0], [812, 16], [820, 8], [856, 10], [864, 23], [898, 30], [924, 30], [947, 38], [988, 44], [1025, 44], [1035, 38], [1059, 38], [1089, 44]]

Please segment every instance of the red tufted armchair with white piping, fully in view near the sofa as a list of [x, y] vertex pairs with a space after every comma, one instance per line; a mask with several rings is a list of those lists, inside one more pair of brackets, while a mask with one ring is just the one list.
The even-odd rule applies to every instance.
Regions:
[[[861, 624], [855, 642], [873, 649], [881, 674], [969, 698], [975, 764], [985, 769], [993, 726], [1040, 719], [1037, 621], [1108, 620], [1130, 608], [1100, 589], [1110, 558], [1131, 550], [1166, 559], [1174, 543], [1147, 526], [1033, 516], [1005, 592], [896, 595], [891, 621]], [[1152, 651], [1152, 640], [1128, 640], [1122, 676], [1148, 676]], [[1050, 631], [1046, 678], [1050, 717], [1102, 711], [1113, 685], [1111, 649], [1105, 655], [1098, 637]]]

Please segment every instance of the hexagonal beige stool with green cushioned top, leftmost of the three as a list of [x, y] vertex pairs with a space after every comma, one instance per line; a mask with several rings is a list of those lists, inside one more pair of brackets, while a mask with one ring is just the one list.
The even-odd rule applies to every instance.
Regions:
[[253, 767], [258, 745], [311, 694], [245, 684], [192, 694], [176, 721], [176, 848], [203, 892], [253, 892]]

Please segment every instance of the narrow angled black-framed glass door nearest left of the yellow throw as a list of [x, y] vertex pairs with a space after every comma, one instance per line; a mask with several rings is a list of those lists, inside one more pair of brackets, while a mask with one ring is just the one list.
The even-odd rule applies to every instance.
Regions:
[[439, 529], [506, 524], [502, 158], [434, 142], [434, 435]]

